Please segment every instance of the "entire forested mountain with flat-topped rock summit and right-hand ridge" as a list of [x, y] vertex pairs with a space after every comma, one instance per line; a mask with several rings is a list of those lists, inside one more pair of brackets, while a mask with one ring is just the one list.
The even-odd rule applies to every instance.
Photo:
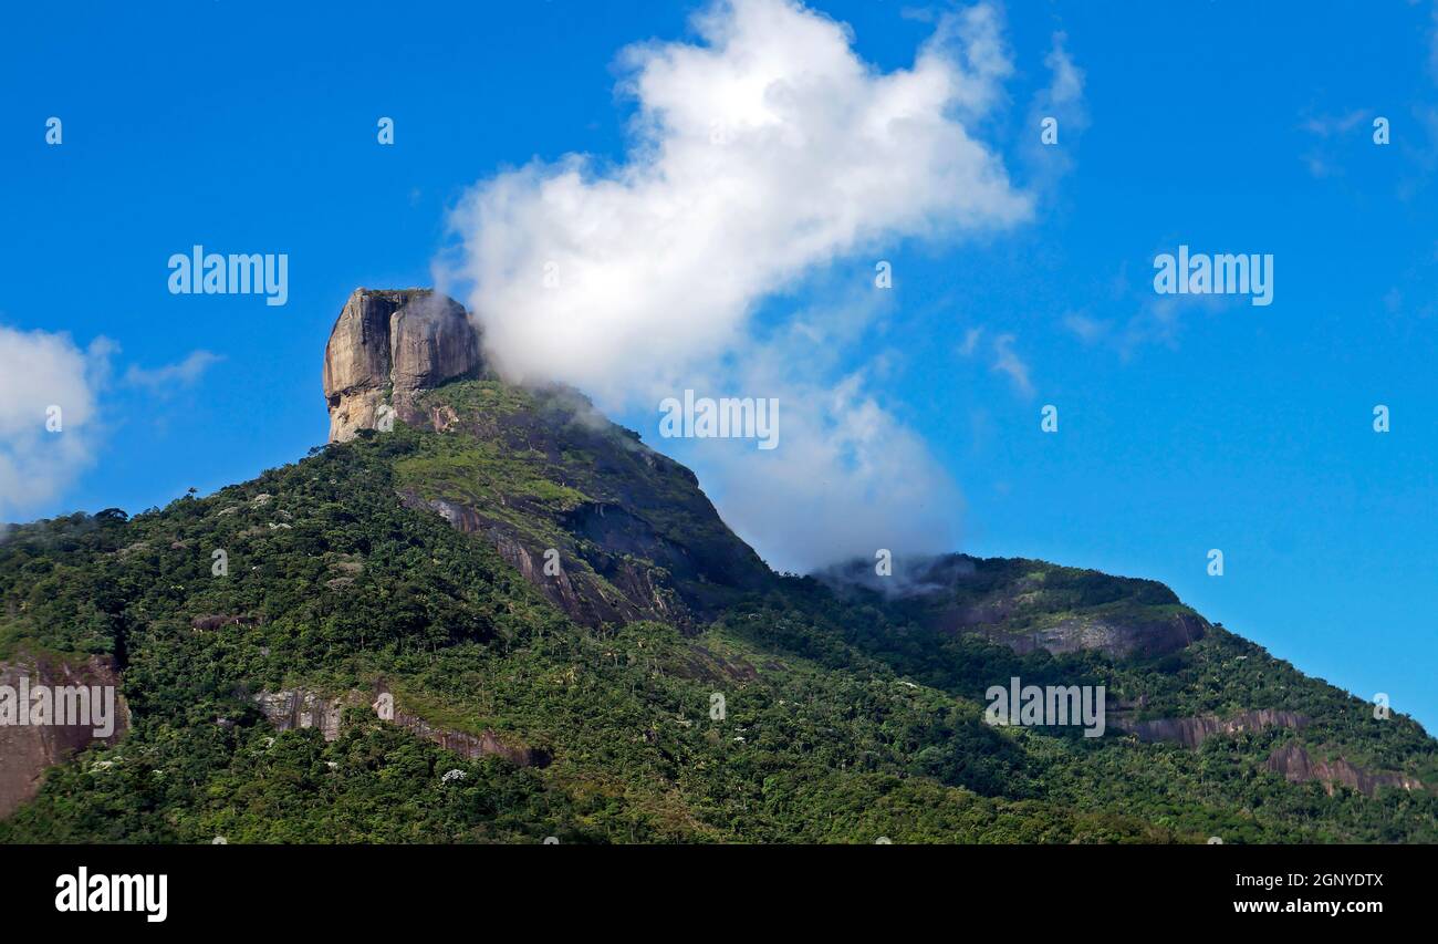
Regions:
[[[692, 472], [482, 351], [452, 299], [357, 291], [329, 443], [10, 530], [0, 684], [122, 711], [0, 728], [0, 840], [1438, 840], [1418, 724], [1162, 584], [771, 573]], [[986, 724], [1012, 678], [1103, 686], [1102, 735]]]

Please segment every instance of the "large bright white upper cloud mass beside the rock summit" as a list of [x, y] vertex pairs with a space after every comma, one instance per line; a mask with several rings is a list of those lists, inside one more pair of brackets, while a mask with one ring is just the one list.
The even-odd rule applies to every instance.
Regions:
[[755, 302], [840, 256], [1027, 219], [1030, 199], [962, 121], [1011, 69], [989, 7], [946, 17], [889, 73], [785, 0], [696, 24], [705, 45], [623, 56], [638, 102], [627, 164], [531, 164], [453, 214], [459, 275], [510, 376], [621, 397], [743, 341]]

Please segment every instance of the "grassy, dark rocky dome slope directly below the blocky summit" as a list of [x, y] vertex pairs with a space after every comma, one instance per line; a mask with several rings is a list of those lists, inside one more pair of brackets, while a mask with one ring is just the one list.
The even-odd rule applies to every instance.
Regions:
[[[395, 465], [400, 494], [483, 534], [584, 625], [692, 627], [772, 578], [689, 469], [572, 390], [467, 381], [418, 406], [447, 435]], [[557, 573], [544, 573], [546, 553]]]

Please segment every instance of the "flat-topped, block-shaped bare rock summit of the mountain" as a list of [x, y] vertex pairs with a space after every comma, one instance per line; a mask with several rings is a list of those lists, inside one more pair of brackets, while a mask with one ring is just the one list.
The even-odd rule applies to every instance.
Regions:
[[479, 330], [453, 298], [420, 288], [355, 289], [325, 345], [329, 442], [378, 426], [383, 406], [413, 420], [418, 393], [483, 371], [479, 351]]

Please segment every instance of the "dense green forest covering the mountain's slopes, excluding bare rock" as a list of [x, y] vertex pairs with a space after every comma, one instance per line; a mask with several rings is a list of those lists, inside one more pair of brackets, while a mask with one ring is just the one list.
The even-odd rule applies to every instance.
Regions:
[[[485, 384], [452, 394], [470, 416], [532, 407]], [[554, 519], [533, 515], [618, 488], [587, 468], [582, 450], [519, 455], [483, 430], [400, 426], [134, 518], [14, 528], [0, 544], [0, 659], [112, 656], [134, 727], [53, 768], [0, 840], [1438, 840], [1431, 790], [1330, 796], [1265, 771], [1277, 744], [1301, 738], [1434, 784], [1438, 744], [1218, 627], [1162, 659], [1017, 655], [797, 577], [697, 632], [582, 627], [479, 535], [397, 498], [528, 495], [503, 514], [551, 535]], [[1125, 581], [1058, 573], [1053, 587], [1050, 609], [1175, 604], [1158, 584], [1126, 597]], [[204, 614], [244, 620], [197, 629]], [[984, 691], [1011, 675], [1106, 685], [1133, 717], [1284, 708], [1313, 724], [1199, 750], [1114, 728], [989, 727]], [[364, 708], [332, 743], [276, 732], [253, 701], [381, 682], [430, 725], [493, 732], [552, 763], [467, 760]]]

